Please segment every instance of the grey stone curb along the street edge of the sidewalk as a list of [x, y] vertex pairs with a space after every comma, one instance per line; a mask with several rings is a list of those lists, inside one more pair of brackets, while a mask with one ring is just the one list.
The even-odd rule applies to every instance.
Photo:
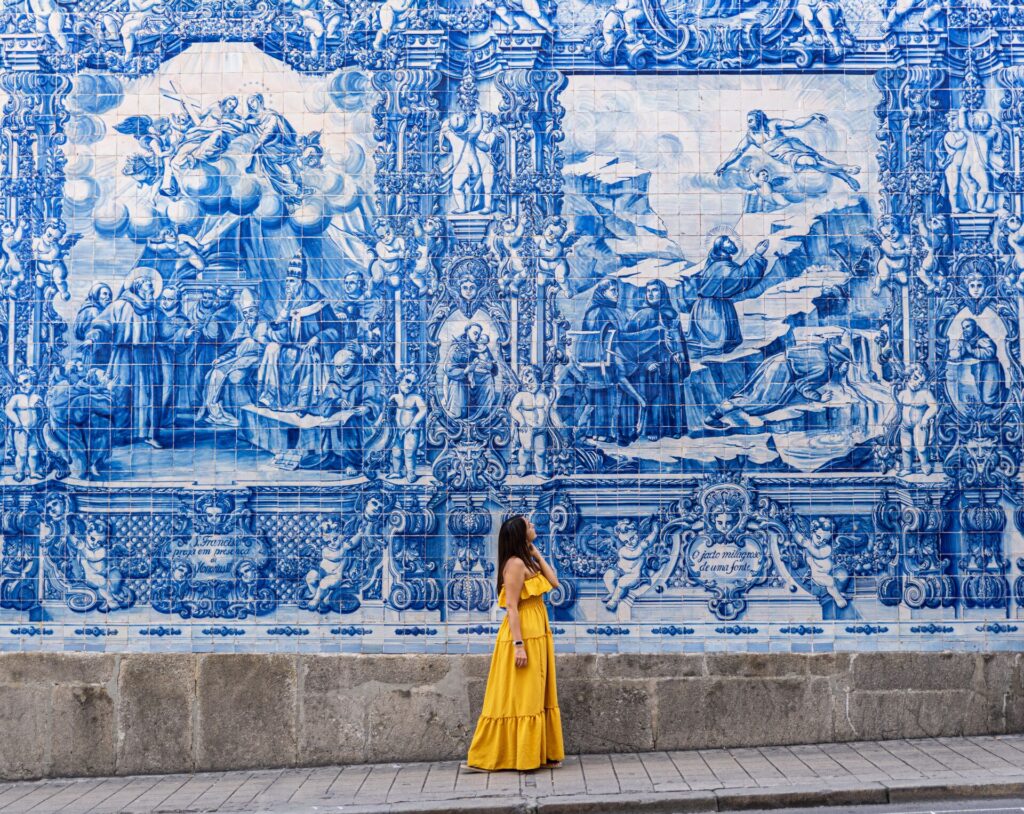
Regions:
[[[632, 795], [566, 795], [540, 800], [475, 798], [454, 802], [422, 801], [375, 806], [326, 806], [342, 814], [695, 814], [753, 809], [867, 806], [912, 803], [943, 798], [1024, 797], [1024, 779], [984, 782], [953, 779], [830, 782], [827, 785], [780, 785], [767, 788], [719, 788], [710, 791], [666, 791]], [[296, 807], [294, 814], [311, 806]], [[275, 809], [280, 812], [281, 809]], [[258, 814], [255, 812], [254, 814]]]

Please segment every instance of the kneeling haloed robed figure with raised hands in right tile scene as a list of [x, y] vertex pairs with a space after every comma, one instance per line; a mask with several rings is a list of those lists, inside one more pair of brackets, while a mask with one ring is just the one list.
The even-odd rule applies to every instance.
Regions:
[[729, 353], [743, 341], [739, 316], [732, 301], [753, 289], [768, 269], [761, 241], [740, 265], [733, 258], [739, 248], [727, 234], [715, 239], [703, 270], [696, 275], [696, 302], [690, 310], [686, 342], [693, 358]]

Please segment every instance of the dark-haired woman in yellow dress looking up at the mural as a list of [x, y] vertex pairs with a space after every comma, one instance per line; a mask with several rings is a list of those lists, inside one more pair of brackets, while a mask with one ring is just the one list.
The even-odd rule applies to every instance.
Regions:
[[558, 577], [522, 515], [498, 532], [498, 605], [508, 614], [498, 632], [483, 712], [466, 768], [529, 771], [557, 766], [564, 757], [555, 688], [555, 646], [543, 595]]

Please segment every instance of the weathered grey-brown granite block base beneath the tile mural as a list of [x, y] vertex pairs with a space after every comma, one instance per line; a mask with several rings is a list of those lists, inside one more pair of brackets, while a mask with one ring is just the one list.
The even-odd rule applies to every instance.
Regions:
[[[462, 757], [485, 655], [0, 655], [0, 777]], [[566, 749], [1024, 731], [1024, 654], [563, 655]]]

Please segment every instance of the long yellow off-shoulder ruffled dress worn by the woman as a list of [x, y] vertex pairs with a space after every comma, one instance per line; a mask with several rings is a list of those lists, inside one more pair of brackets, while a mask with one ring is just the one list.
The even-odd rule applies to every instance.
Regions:
[[[544, 594], [551, 583], [543, 573], [528, 577], [519, 595], [519, 622], [526, 667], [515, 666], [508, 616], [502, 622], [490, 658], [483, 712], [467, 763], [477, 769], [529, 771], [565, 757], [562, 720], [555, 687], [555, 643]], [[505, 607], [505, 589], [498, 596]]]

